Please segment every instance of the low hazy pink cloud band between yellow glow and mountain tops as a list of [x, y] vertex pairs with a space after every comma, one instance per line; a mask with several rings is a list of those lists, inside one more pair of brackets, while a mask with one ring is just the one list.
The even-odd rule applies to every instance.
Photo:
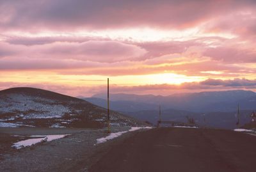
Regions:
[[[68, 86], [63, 84], [49, 83], [20, 83], [20, 82], [0, 82], [0, 90], [9, 87], [35, 87], [45, 90], [56, 91], [73, 96], [90, 97], [97, 93], [105, 93], [106, 86]], [[248, 79], [230, 79], [223, 81], [220, 79], [207, 79], [202, 82], [184, 82], [180, 85], [175, 84], [147, 84], [138, 86], [118, 86], [111, 85], [111, 93], [137, 93], [137, 94], [154, 94], [172, 95], [174, 93], [187, 93], [199, 91], [216, 91], [216, 90], [252, 90], [256, 91], [256, 80]]]

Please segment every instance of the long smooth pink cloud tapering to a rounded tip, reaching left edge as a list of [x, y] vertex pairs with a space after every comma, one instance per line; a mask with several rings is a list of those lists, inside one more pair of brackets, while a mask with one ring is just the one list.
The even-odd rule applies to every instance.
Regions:
[[[33, 46], [1, 44], [3, 51], [1, 51], [0, 57], [23, 56], [31, 58], [31, 61], [36, 61], [36, 59], [76, 59], [113, 63], [135, 60], [147, 52], [137, 45], [115, 41], [56, 42]], [[22, 60], [22, 58], [20, 59]]]

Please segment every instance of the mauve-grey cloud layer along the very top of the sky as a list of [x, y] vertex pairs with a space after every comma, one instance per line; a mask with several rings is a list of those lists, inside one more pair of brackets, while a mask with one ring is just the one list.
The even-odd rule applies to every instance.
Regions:
[[[106, 29], [152, 26], [184, 28], [237, 9], [255, 7], [254, 1], [3, 1], [1, 27], [28, 30]], [[7, 15], [6, 15], [7, 14]], [[22, 14], [22, 15], [21, 15]]]

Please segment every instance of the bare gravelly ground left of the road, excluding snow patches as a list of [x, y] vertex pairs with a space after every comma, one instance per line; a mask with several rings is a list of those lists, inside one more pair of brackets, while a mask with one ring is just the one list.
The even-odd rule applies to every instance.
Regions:
[[[114, 128], [112, 132], [129, 128]], [[62, 139], [15, 150], [11, 148], [16, 141], [29, 135], [71, 134]], [[88, 168], [106, 153], [109, 148], [131, 133], [95, 145], [96, 140], [105, 137], [106, 129], [0, 129], [0, 171], [87, 171]], [[114, 143], [115, 142], [115, 143]]]

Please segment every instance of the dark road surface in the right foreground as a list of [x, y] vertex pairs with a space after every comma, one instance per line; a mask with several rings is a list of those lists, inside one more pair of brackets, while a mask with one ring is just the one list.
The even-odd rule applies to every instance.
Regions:
[[256, 171], [256, 136], [214, 129], [159, 128], [113, 146], [89, 171]]

